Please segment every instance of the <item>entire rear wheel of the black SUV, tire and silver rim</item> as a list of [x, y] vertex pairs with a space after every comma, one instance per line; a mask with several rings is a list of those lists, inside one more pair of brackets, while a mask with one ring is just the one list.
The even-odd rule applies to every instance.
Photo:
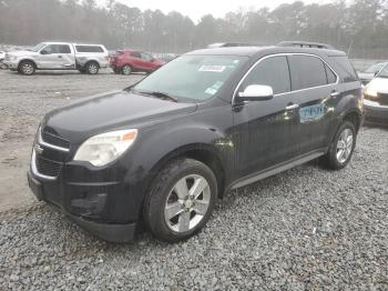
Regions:
[[344, 121], [339, 126], [328, 152], [321, 158], [321, 163], [330, 170], [345, 168], [355, 150], [356, 138], [355, 124], [350, 121]]

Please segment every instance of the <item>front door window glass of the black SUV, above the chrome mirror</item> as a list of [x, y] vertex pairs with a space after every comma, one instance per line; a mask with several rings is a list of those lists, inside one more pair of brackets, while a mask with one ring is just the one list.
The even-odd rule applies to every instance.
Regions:
[[251, 84], [270, 86], [274, 94], [289, 92], [290, 81], [286, 57], [270, 57], [261, 61], [246, 77], [241, 91]]

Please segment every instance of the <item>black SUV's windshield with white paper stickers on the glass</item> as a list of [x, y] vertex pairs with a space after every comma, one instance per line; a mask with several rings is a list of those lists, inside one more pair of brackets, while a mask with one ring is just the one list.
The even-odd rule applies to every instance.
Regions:
[[247, 59], [235, 56], [182, 56], [132, 90], [165, 93], [177, 101], [201, 102], [215, 96]]

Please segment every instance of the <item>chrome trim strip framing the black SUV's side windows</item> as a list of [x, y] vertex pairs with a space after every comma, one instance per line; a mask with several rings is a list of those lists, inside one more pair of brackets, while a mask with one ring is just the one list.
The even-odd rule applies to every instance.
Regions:
[[[298, 89], [298, 90], [289, 90], [287, 92], [284, 93], [278, 93], [278, 94], [274, 94], [275, 97], [278, 96], [284, 96], [284, 94], [289, 94], [289, 93], [294, 93], [294, 92], [302, 92], [302, 91], [306, 91], [306, 90], [312, 90], [312, 89], [318, 89], [318, 88], [325, 88], [328, 86], [334, 86], [334, 84], [338, 84], [339, 83], [339, 76], [338, 73], [331, 68], [330, 64], [328, 64], [323, 58], [320, 58], [319, 56], [313, 54], [313, 53], [304, 53], [304, 52], [285, 52], [285, 53], [274, 53], [274, 54], [268, 54], [265, 56], [263, 58], [261, 58], [259, 60], [257, 60], [251, 68], [243, 76], [243, 78], [239, 80], [238, 84], [236, 86], [234, 92], [233, 92], [233, 98], [232, 98], [232, 104], [235, 104], [235, 98], [237, 96], [237, 90], [238, 88], [242, 86], [242, 83], [245, 81], [246, 77], [252, 72], [253, 69], [256, 68], [256, 66], [258, 66], [262, 61], [269, 59], [269, 58], [275, 58], [275, 57], [287, 57], [287, 56], [307, 56], [307, 57], [315, 57], [317, 59], [319, 59], [323, 63], [325, 63], [336, 76], [336, 82], [334, 83], [328, 83], [328, 84], [323, 84], [323, 86], [316, 86], [316, 87], [310, 87], [310, 88], [304, 88], [304, 89]], [[288, 69], [289, 69], [289, 64], [288, 64]], [[326, 72], [325, 72], [326, 73]], [[290, 80], [289, 80], [290, 81]]]

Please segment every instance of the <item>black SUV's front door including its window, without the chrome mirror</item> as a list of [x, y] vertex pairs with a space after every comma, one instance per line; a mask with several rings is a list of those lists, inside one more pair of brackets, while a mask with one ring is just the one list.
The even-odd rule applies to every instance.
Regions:
[[290, 93], [287, 58], [267, 57], [256, 63], [237, 93], [252, 84], [270, 86], [274, 97], [234, 104], [236, 179], [278, 165], [298, 154], [298, 112]]

